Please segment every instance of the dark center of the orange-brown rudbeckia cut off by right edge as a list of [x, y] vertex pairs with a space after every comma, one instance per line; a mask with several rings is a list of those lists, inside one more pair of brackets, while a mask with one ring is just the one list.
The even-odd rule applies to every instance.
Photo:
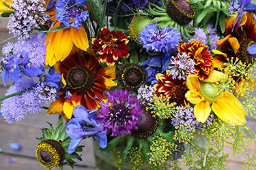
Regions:
[[251, 55], [247, 51], [247, 48], [254, 44], [256, 43], [252, 39], [246, 39], [241, 42], [240, 48], [239, 48], [239, 58], [240, 58], [240, 61], [242, 61], [242, 63], [245, 63], [247, 65], [249, 63], [251, 64], [253, 59], [256, 58], [256, 54]]

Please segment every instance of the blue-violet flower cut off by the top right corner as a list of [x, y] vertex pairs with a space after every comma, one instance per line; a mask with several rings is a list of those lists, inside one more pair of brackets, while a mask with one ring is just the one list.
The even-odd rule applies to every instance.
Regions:
[[[235, 3], [235, 1], [233, 1], [233, 3]], [[253, 12], [254, 14], [256, 12], [256, 4], [251, 4], [251, 0], [238, 0], [238, 3], [241, 5], [240, 12], [238, 13], [238, 16], [236, 17], [236, 21], [233, 23], [232, 31], [235, 28], [236, 22], [238, 22], [238, 20], [244, 14], [244, 11]]]

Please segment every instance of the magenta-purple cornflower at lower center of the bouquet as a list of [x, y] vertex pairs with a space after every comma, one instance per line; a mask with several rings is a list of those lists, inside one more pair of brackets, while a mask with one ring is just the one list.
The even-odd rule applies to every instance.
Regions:
[[112, 130], [112, 137], [121, 137], [123, 133], [130, 134], [132, 129], [137, 130], [139, 115], [143, 112], [136, 96], [129, 96], [128, 90], [110, 90], [106, 92], [106, 103], [100, 102], [100, 114], [97, 115], [98, 123], [102, 124], [105, 133]]

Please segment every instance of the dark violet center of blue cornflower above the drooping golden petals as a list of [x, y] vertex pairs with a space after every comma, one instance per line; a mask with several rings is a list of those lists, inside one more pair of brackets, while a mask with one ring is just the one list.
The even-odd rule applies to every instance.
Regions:
[[76, 2], [73, 0], [69, 0], [68, 3], [66, 3], [65, 7], [66, 7], [66, 10], [64, 10], [64, 12], [69, 17], [69, 20], [71, 20], [72, 18], [75, 18], [76, 15], [80, 16], [81, 13], [83, 12], [83, 10], [81, 10], [79, 5], [76, 5]]

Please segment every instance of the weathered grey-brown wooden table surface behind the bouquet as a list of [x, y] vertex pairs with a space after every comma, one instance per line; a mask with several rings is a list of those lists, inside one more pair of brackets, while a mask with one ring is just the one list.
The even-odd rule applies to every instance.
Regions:
[[[7, 19], [0, 20], [0, 42], [12, 37], [8, 34], [5, 26], [8, 23]], [[15, 38], [10, 39], [9, 41], [16, 41]], [[0, 48], [3, 47], [5, 43], [0, 44]], [[0, 54], [1, 56], [1, 54]], [[10, 86], [10, 81], [8, 82], [8, 87]], [[0, 80], [0, 97], [5, 96], [5, 92], [8, 87], [3, 86], [2, 80]], [[35, 159], [35, 150], [38, 146], [38, 141], [35, 137], [41, 137], [42, 133], [40, 128], [48, 127], [48, 122], [52, 122], [54, 126], [57, 124], [58, 115], [46, 116], [46, 110], [40, 112], [40, 114], [27, 114], [25, 120], [20, 122], [14, 122], [14, 124], [8, 124], [0, 116], [0, 170], [6, 169], [15, 169], [15, 170], [45, 170], [46, 168], [42, 167], [40, 163]], [[256, 132], [255, 121], [251, 118], [246, 118], [247, 124], [253, 131]], [[92, 170], [96, 169], [95, 158], [94, 158], [94, 149], [93, 149], [93, 140], [83, 140], [81, 142], [84, 145], [83, 149], [83, 161], [76, 163], [74, 169], [79, 170]], [[21, 149], [19, 151], [13, 151], [9, 148], [9, 143], [20, 143]], [[255, 153], [255, 148], [249, 150], [250, 154]], [[233, 156], [231, 150], [226, 150], [229, 153], [229, 160], [227, 168], [232, 168], [233, 170], [241, 169], [242, 160], [246, 157], [244, 154], [240, 156]], [[9, 159], [15, 158], [16, 162], [10, 163]], [[56, 169], [59, 169], [57, 167]], [[71, 169], [69, 165], [63, 167], [64, 170]], [[186, 169], [186, 168], [183, 168]], [[110, 169], [106, 169], [110, 170]]]

